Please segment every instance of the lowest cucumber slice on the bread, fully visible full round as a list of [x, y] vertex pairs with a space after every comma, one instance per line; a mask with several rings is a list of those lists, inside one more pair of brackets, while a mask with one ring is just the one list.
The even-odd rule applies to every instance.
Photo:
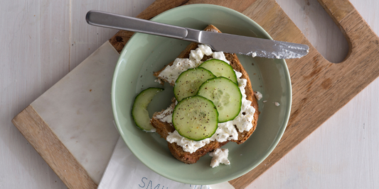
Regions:
[[207, 98], [191, 96], [175, 106], [172, 123], [181, 136], [199, 141], [215, 134], [218, 112]]

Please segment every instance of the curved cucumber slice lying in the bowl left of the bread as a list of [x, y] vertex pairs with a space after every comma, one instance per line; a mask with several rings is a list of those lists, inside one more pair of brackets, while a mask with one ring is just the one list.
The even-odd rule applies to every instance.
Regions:
[[145, 132], [155, 132], [156, 129], [150, 123], [149, 112], [147, 111], [147, 105], [153, 100], [156, 93], [163, 91], [163, 88], [146, 88], [139, 93], [134, 100], [132, 108], [133, 120], [137, 127]]

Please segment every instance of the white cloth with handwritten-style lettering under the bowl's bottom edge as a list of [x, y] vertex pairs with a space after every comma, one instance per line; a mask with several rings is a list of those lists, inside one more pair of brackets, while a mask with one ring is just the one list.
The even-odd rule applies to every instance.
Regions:
[[142, 164], [119, 137], [98, 189], [234, 189], [230, 183], [189, 185], [171, 181]]

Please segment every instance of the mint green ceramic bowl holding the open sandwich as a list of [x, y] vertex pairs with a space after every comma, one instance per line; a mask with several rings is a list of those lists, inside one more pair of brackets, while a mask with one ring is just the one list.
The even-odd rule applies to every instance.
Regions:
[[[260, 25], [247, 16], [222, 6], [193, 4], [180, 6], [151, 19], [187, 28], [203, 30], [213, 24], [223, 33], [271, 39]], [[196, 185], [230, 181], [251, 171], [274, 149], [286, 128], [291, 109], [292, 91], [287, 64], [283, 59], [252, 58], [238, 55], [252, 81], [260, 91], [260, 117], [257, 130], [244, 144], [230, 142], [230, 165], [210, 168], [208, 155], [196, 164], [176, 160], [159, 134], [139, 130], [132, 120], [135, 96], [145, 88], [164, 87], [149, 105], [149, 113], [169, 106], [172, 87], [154, 82], [154, 71], [173, 61], [189, 42], [137, 33], [130, 38], [117, 62], [112, 84], [112, 108], [117, 129], [124, 142], [139, 160], [161, 176], [181, 183]], [[262, 103], [262, 101], [267, 101]], [[279, 106], [274, 105], [279, 102]]]

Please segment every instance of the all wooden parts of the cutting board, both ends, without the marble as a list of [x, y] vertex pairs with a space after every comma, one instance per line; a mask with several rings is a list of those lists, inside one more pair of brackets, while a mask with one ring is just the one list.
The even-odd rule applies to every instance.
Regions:
[[[183, 4], [217, 4], [252, 18], [274, 40], [309, 45], [309, 55], [306, 57], [286, 60], [293, 91], [287, 130], [260, 166], [230, 181], [235, 188], [250, 185], [379, 76], [379, 38], [358, 11], [348, 0], [319, 2], [341, 28], [348, 42], [348, 55], [341, 63], [333, 64], [324, 59], [274, 0], [245, 0], [238, 4], [232, 0], [157, 0], [137, 16], [150, 19]], [[121, 52], [131, 36], [130, 32], [119, 31], [110, 39], [110, 44]], [[87, 170], [70, 154], [31, 105], [13, 122], [68, 188], [96, 188], [97, 182], [88, 176]]]

